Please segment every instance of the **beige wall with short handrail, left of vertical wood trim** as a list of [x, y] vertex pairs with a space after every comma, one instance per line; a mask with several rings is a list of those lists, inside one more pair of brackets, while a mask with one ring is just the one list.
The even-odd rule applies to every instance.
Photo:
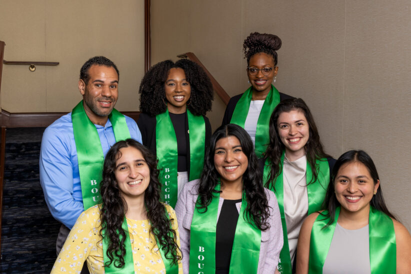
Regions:
[[3, 65], [1, 108], [70, 111], [81, 99], [81, 65], [104, 55], [120, 71], [119, 110], [137, 110], [144, 73], [143, 0], [0, 0], [0, 40], [8, 61], [59, 61], [57, 66]]

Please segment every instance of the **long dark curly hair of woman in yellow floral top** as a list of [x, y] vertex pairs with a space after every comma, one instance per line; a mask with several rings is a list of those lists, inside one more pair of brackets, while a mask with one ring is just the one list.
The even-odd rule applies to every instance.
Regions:
[[[171, 222], [174, 219], [168, 219], [165, 206], [160, 200], [161, 184], [158, 181], [157, 159], [148, 148], [136, 140], [126, 139], [116, 142], [108, 150], [104, 159], [103, 178], [100, 183], [100, 193], [102, 197], [101, 205], [101, 230], [105, 229], [106, 236], [109, 238], [107, 247], [107, 257], [109, 261], [105, 266], [114, 264], [115, 267], [124, 266], [125, 255], [125, 231], [121, 228], [127, 205], [121, 195], [118, 184], [115, 181], [115, 162], [121, 157], [120, 149], [123, 147], [134, 147], [138, 149], [150, 169], [150, 182], [144, 192], [144, 203], [147, 209], [147, 217], [151, 227], [149, 232], [152, 233], [159, 241], [166, 258], [172, 259], [177, 263], [181, 259], [179, 247], [176, 243], [176, 233], [171, 228]], [[120, 240], [121, 238], [121, 240]]]

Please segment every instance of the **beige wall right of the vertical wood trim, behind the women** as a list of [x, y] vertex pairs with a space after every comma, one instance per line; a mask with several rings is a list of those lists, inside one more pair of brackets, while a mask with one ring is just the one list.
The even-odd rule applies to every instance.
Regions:
[[[192, 51], [229, 95], [247, 88], [242, 42], [277, 34], [278, 90], [310, 106], [326, 151], [374, 159], [388, 207], [411, 228], [411, 9], [403, 1], [151, 1], [152, 63]], [[207, 114], [215, 128], [224, 105]]]

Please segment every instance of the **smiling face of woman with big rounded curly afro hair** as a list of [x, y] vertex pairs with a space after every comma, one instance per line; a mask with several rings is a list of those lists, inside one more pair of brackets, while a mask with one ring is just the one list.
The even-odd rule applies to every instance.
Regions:
[[168, 71], [164, 83], [165, 98], [167, 99], [168, 112], [180, 114], [185, 112], [186, 103], [190, 98], [191, 86], [185, 79], [182, 68], [173, 67]]

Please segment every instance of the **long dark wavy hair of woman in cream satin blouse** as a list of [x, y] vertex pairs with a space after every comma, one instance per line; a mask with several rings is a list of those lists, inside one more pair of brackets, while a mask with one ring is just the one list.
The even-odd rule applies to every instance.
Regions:
[[[274, 111], [269, 119], [269, 143], [263, 156], [264, 160], [268, 158], [271, 162], [271, 168], [267, 181], [265, 182], [265, 187], [270, 189], [275, 189], [275, 179], [282, 170], [280, 157], [282, 151], [285, 149], [285, 146], [279, 137], [277, 120], [279, 114], [282, 112], [289, 112], [291, 110], [301, 111], [308, 122], [309, 138], [304, 147], [308, 164], [312, 170], [312, 178], [308, 183], [312, 183], [317, 180], [319, 166], [316, 166], [315, 160], [330, 157], [324, 152], [322, 143], [319, 140], [319, 134], [314, 118], [312, 117], [311, 111], [309, 111], [309, 108], [304, 100], [301, 98], [288, 98], [280, 101], [274, 108]], [[323, 187], [325, 189], [325, 186]]]

